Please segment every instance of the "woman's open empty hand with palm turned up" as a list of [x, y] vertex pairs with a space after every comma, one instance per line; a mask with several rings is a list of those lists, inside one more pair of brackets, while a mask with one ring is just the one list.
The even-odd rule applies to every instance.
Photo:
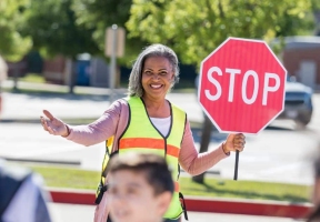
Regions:
[[48, 131], [50, 134], [53, 135], [62, 135], [62, 137], [69, 135], [70, 132], [64, 122], [54, 118], [48, 110], [43, 110], [43, 114], [46, 117], [42, 115], [40, 117], [43, 130]]

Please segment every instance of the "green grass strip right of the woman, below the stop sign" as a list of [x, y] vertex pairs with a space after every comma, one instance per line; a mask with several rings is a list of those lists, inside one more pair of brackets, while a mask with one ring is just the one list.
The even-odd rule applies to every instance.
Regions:
[[190, 178], [182, 178], [180, 184], [186, 195], [216, 198], [309, 202], [311, 193], [311, 186], [308, 185], [234, 181], [208, 176], [204, 179], [204, 184], [191, 182]]

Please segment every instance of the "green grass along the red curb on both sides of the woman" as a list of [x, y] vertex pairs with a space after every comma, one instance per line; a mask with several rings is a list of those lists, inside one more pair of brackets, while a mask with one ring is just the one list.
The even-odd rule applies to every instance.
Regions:
[[[100, 172], [84, 171], [73, 168], [31, 165], [40, 173], [47, 186], [88, 189], [96, 191]], [[237, 198], [254, 200], [276, 200], [289, 202], [310, 202], [311, 186], [284, 183], [267, 183], [257, 181], [233, 181], [207, 176], [204, 184], [181, 178], [180, 186], [183, 195], [200, 195], [212, 198]]]

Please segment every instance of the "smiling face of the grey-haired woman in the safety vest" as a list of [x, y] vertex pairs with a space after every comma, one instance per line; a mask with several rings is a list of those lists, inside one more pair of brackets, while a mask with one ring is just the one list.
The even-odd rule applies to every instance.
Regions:
[[174, 80], [169, 60], [163, 57], [147, 58], [142, 67], [143, 98], [164, 99]]

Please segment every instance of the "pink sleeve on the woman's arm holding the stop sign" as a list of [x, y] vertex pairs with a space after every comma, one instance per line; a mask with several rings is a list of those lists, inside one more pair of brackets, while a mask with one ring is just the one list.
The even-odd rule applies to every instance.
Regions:
[[227, 157], [229, 155], [223, 152], [222, 143], [211, 151], [198, 153], [190, 123], [187, 120], [179, 154], [179, 163], [186, 172], [191, 175], [201, 174]]

